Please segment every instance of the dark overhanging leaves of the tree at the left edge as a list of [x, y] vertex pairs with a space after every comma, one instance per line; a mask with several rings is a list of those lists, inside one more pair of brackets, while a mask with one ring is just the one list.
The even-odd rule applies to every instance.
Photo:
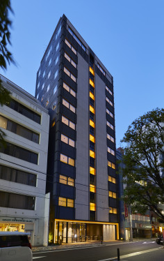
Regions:
[[[8, 17], [8, 13], [13, 10], [10, 6], [10, 0], [0, 1], [0, 68], [6, 70], [7, 63], [15, 64], [12, 54], [8, 51], [8, 44], [10, 43], [10, 27], [12, 22]], [[6, 104], [10, 101], [10, 92], [6, 90], [0, 80], [0, 105]], [[0, 130], [0, 147], [4, 145], [5, 133]]]

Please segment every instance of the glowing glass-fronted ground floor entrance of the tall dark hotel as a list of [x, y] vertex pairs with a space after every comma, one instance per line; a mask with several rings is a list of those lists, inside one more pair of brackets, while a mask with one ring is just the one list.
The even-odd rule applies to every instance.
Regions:
[[54, 243], [110, 241], [118, 237], [118, 224], [62, 220], [54, 222]]

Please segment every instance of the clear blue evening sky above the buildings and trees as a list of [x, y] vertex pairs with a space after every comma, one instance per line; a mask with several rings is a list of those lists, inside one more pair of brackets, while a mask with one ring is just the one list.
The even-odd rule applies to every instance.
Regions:
[[11, 0], [12, 47], [17, 67], [0, 73], [35, 94], [36, 73], [65, 13], [114, 78], [117, 147], [129, 124], [163, 107], [163, 0]]

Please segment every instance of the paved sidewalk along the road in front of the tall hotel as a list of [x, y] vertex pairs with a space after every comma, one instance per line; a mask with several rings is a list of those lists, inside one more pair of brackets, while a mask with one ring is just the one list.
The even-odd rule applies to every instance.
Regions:
[[132, 242], [129, 242], [129, 240], [121, 241], [121, 240], [115, 240], [115, 241], [103, 241], [101, 244], [101, 241], [87, 241], [87, 242], [78, 242], [78, 243], [71, 243], [71, 244], [62, 244], [59, 246], [32, 246], [32, 252], [42, 252], [42, 251], [54, 251], [54, 250], [60, 250], [60, 249], [70, 249], [70, 248], [89, 248], [89, 247], [96, 247], [96, 246], [109, 246], [109, 245], [120, 245], [120, 244], [129, 244], [134, 243], [138, 241], [156, 241], [156, 238], [152, 239], [133, 239]]

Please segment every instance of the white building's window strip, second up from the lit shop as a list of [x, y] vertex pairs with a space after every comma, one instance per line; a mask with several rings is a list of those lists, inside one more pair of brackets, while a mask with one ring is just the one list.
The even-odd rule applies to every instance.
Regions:
[[0, 179], [25, 184], [28, 186], [36, 186], [36, 175], [23, 170], [16, 170], [12, 167], [0, 165]]

